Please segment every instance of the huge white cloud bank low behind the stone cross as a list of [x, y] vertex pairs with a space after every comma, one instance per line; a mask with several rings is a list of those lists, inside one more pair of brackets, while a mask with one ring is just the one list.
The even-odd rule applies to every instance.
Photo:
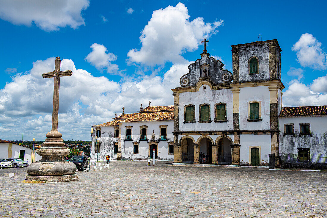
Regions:
[[[29, 72], [17, 73], [0, 89], [0, 138], [19, 139], [24, 132], [33, 133], [26, 134], [26, 139], [43, 140], [51, 130], [53, 79], [44, 79], [42, 74], [54, 70], [54, 61], [54, 57], [35, 61]], [[163, 76], [142, 75], [114, 82], [94, 77], [77, 69], [72, 60], [63, 59], [61, 70], [72, 70], [73, 75], [60, 78], [59, 132], [63, 139], [87, 140], [91, 125], [111, 121], [123, 106], [125, 113], [135, 113], [149, 100], [151, 105], [172, 105], [170, 89], [180, 86], [188, 65], [175, 64]], [[19, 137], [9, 138], [8, 131]]]

